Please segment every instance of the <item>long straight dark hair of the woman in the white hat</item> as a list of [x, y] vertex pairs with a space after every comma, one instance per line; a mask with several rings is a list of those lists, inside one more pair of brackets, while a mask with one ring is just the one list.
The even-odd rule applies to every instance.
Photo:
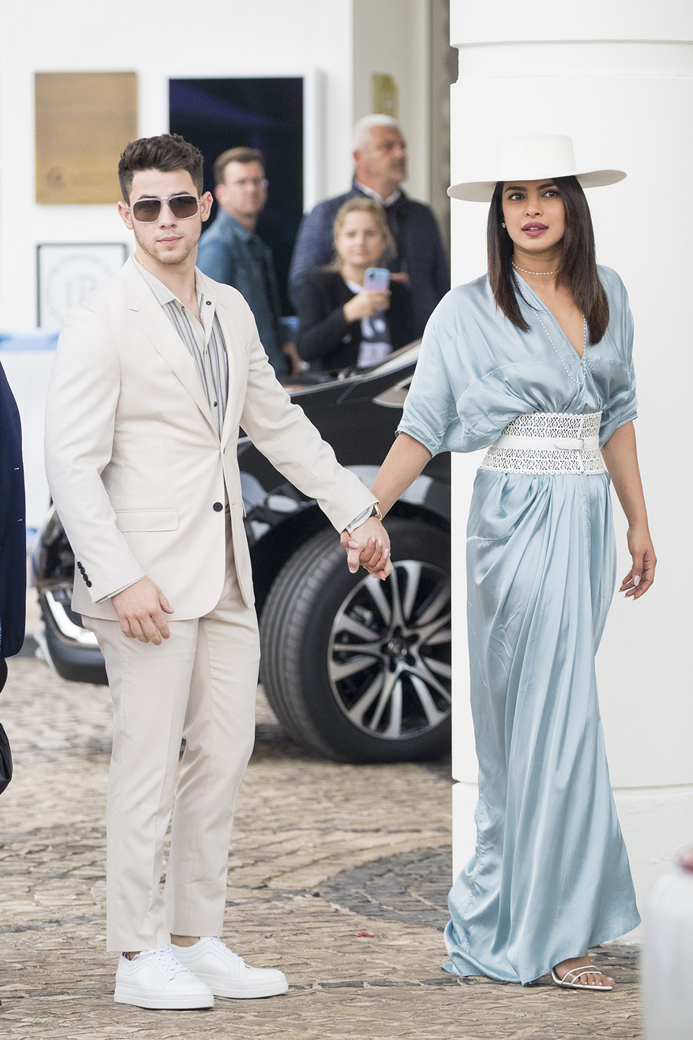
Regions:
[[[565, 207], [565, 234], [556, 281], [570, 289], [585, 315], [589, 342], [598, 343], [609, 324], [609, 300], [599, 280], [590, 207], [576, 177], [556, 177]], [[498, 181], [488, 214], [488, 278], [496, 305], [509, 321], [529, 332], [517, 301], [513, 240], [503, 227], [503, 181]]]

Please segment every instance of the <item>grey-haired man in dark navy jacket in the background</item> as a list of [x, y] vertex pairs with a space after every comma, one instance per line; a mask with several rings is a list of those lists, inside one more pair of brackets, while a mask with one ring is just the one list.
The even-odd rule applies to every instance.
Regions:
[[306, 275], [332, 259], [332, 227], [342, 203], [354, 196], [370, 196], [385, 208], [396, 248], [387, 265], [394, 281], [411, 287], [416, 335], [420, 336], [434, 307], [450, 289], [450, 268], [431, 208], [409, 199], [400, 186], [407, 178], [407, 146], [391, 116], [359, 120], [354, 131], [354, 165], [351, 191], [318, 203], [303, 218], [289, 269], [289, 296], [298, 308]]

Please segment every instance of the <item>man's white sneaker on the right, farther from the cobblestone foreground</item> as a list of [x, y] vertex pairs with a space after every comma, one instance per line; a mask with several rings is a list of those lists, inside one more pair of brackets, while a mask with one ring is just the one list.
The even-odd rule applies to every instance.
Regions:
[[282, 971], [250, 967], [215, 937], [202, 938], [194, 946], [172, 944], [171, 948], [188, 971], [209, 986], [214, 996], [238, 999], [277, 996], [288, 989]]

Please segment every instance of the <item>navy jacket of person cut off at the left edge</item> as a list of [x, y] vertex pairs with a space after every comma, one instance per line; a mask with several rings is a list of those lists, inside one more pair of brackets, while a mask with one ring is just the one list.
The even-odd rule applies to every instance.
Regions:
[[0, 365], [0, 690], [7, 677], [5, 657], [22, 649], [25, 608], [22, 427], [17, 402]]

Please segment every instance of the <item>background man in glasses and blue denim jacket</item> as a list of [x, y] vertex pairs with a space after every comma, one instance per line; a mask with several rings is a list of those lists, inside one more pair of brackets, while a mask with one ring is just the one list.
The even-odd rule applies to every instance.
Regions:
[[262, 153], [231, 148], [214, 163], [219, 212], [198, 246], [198, 267], [215, 282], [232, 285], [253, 312], [260, 342], [279, 379], [290, 374], [293, 344], [285, 343], [281, 304], [272, 250], [255, 233], [267, 201]]

